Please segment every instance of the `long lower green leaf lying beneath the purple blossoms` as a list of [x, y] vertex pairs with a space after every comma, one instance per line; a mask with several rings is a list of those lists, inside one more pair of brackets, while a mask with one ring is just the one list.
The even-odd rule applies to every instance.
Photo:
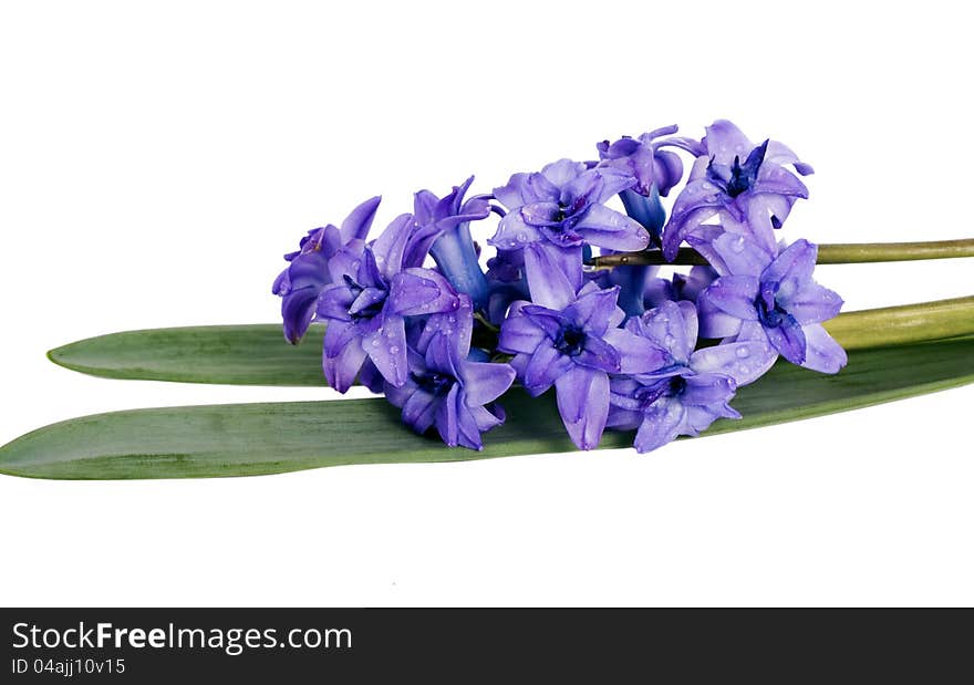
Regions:
[[[743, 421], [715, 435], [890, 402], [974, 381], [974, 339], [862, 350], [835, 376], [779, 364], [740, 390]], [[460, 461], [573, 450], [550, 393], [504, 399], [507, 424], [480, 452], [417, 436], [384, 399], [136, 409], [66, 421], [0, 447], [0, 473], [35, 478], [193, 478], [278, 474], [344, 464]], [[631, 444], [607, 432], [603, 447]]]

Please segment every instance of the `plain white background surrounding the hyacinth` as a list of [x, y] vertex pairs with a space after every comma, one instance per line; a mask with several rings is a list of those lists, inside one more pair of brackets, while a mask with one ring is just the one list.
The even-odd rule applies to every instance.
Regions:
[[[787, 236], [971, 235], [963, 3], [6, 2], [0, 443], [328, 390], [91, 378], [44, 352], [273, 321], [309, 228], [717, 117], [812, 163]], [[847, 309], [971, 262], [823, 268]], [[972, 604], [974, 387], [632, 450], [198, 481], [0, 477], [0, 604]], [[487, 436], [489, 439], [489, 435]]]

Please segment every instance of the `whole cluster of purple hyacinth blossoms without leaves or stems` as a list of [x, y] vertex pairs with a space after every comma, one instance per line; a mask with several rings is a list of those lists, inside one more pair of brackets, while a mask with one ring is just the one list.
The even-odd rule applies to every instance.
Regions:
[[[701, 139], [675, 134], [604, 141], [598, 159], [559, 159], [489, 194], [468, 196], [473, 177], [443, 198], [421, 190], [375, 238], [380, 198], [362, 203], [284, 257], [273, 284], [284, 336], [325, 324], [332, 387], [358, 381], [416, 432], [470, 449], [504, 423], [496, 401], [515, 381], [532, 396], [553, 387], [579, 448], [609, 427], [635, 429], [650, 452], [739, 418], [737, 388], [779, 356], [838, 372], [846, 353], [821, 323], [842, 300], [812, 279], [815, 245], [777, 239], [811, 167], [727, 121]], [[491, 216], [485, 270], [472, 226]], [[669, 278], [587, 266], [595, 249], [673, 261], [683, 245], [708, 266]]]

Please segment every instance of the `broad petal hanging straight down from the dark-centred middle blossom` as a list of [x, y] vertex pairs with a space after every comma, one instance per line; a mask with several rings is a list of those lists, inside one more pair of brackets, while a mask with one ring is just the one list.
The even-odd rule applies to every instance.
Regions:
[[555, 382], [558, 412], [579, 449], [599, 446], [609, 417], [609, 376], [574, 366]]

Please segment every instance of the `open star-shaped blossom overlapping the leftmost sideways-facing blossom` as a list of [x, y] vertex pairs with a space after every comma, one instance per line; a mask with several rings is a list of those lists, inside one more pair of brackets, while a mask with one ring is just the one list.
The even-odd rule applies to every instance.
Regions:
[[403, 385], [408, 374], [404, 318], [459, 308], [442, 274], [402, 269], [413, 228], [412, 215], [402, 215], [374, 242], [352, 242], [329, 260], [331, 283], [318, 298], [318, 316], [328, 322], [322, 367], [341, 393], [366, 359], [390, 384]]

